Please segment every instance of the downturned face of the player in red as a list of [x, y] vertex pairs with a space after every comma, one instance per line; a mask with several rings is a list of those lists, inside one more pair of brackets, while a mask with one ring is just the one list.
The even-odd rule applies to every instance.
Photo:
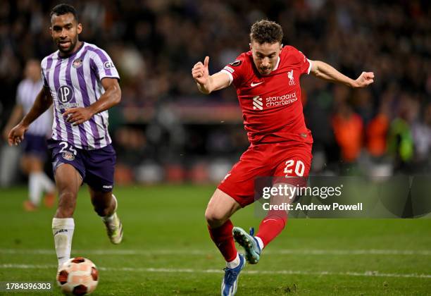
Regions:
[[282, 49], [282, 44], [263, 43], [252, 41], [250, 44], [251, 54], [253, 54], [254, 65], [261, 75], [269, 75], [277, 64], [278, 56]]

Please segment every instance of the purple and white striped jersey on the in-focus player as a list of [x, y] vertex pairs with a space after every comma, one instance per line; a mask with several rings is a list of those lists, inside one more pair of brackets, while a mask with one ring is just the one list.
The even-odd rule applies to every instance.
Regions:
[[111, 58], [103, 49], [86, 42], [71, 56], [58, 53], [46, 56], [41, 64], [44, 86], [49, 87], [54, 99], [52, 138], [87, 150], [111, 144], [107, 110], [76, 126], [61, 115], [66, 109], [87, 107], [97, 101], [105, 92], [103, 78], [120, 79]]

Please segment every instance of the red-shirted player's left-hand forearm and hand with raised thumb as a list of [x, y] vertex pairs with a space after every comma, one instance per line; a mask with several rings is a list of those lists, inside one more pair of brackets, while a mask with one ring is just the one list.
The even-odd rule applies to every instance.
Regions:
[[196, 81], [199, 92], [210, 94], [215, 90], [221, 90], [230, 85], [229, 75], [223, 72], [218, 72], [213, 75], [208, 73], [209, 56], [206, 56], [204, 63], [197, 62], [192, 68], [192, 76]]

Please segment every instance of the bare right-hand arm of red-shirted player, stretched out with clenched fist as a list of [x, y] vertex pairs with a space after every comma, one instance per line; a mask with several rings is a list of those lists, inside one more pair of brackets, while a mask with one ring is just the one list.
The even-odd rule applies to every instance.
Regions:
[[363, 72], [356, 80], [353, 80], [346, 75], [339, 73], [334, 67], [323, 63], [323, 61], [311, 61], [310, 73], [317, 78], [330, 82], [339, 82], [349, 87], [367, 87], [374, 82], [373, 72]]

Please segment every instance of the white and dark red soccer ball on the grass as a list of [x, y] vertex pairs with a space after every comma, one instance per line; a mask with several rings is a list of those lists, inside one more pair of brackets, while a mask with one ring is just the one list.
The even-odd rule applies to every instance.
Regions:
[[96, 290], [99, 271], [92, 261], [76, 257], [65, 261], [57, 273], [57, 283], [65, 295], [85, 295]]

